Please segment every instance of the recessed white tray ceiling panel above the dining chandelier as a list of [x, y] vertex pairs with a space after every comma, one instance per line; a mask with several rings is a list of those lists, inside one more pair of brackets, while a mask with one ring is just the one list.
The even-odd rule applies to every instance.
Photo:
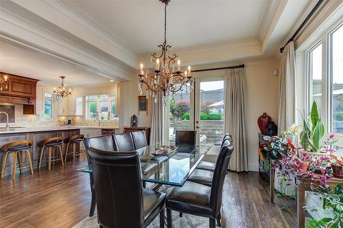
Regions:
[[[271, 2], [172, 0], [167, 5], [167, 43], [182, 48], [258, 38]], [[151, 52], [163, 43], [164, 5], [160, 1], [64, 3], [138, 54]]]

